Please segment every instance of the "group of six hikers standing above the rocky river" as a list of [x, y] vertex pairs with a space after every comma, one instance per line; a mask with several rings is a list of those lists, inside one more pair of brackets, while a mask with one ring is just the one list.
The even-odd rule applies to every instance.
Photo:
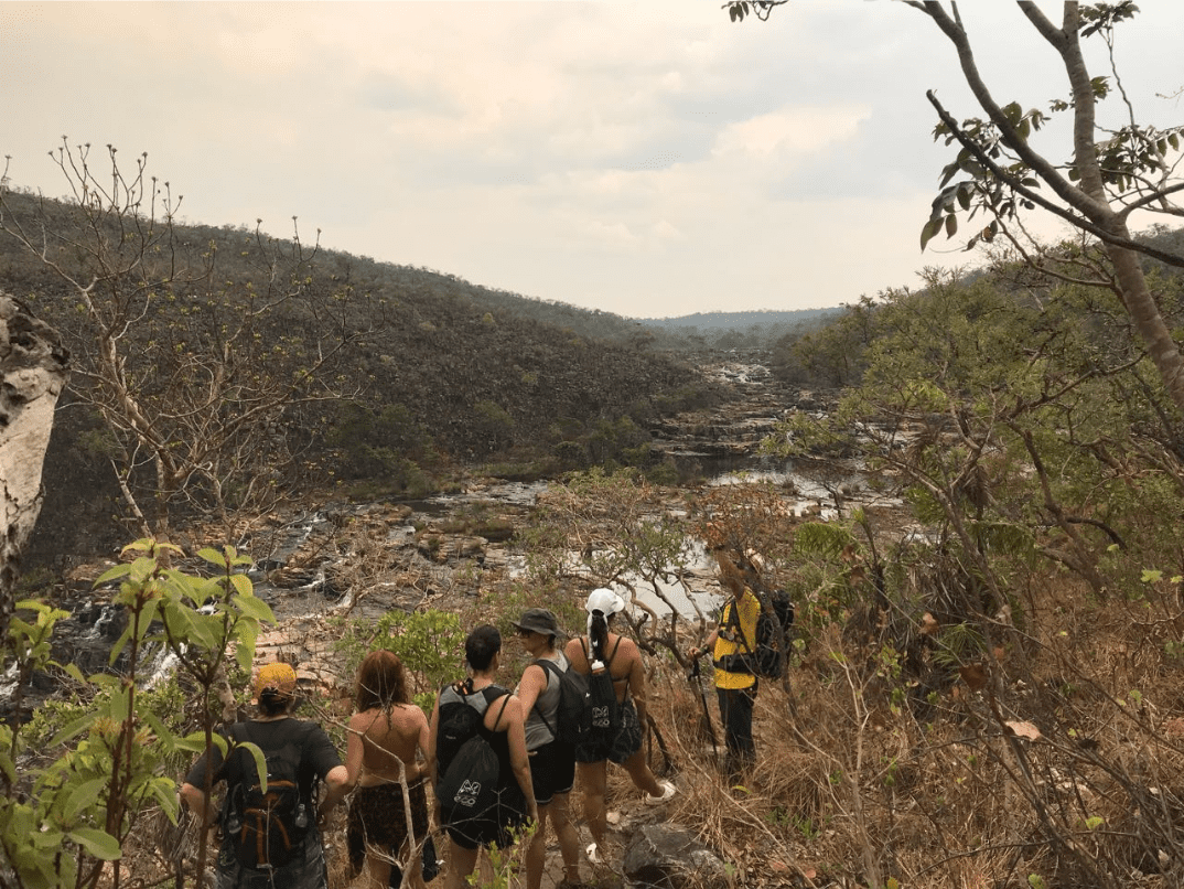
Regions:
[[[757, 677], [723, 667], [732, 665], [728, 655], [755, 637], [760, 603], [738, 574], [725, 570], [721, 580], [729, 595], [719, 628], [687, 654], [694, 659], [713, 652], [734, 774], [755, 754]], [[231, 725], [224, 735], [227, 753], [215, 744], [181, 785], [188, 808], [204, 825], [220, 827], [217, 889], [326, 889], [318, 827], [347, 797], [349, 863], [354, 875], [365, 875], [368, 889], [400, 885], [403, 868], [406, 885], [417, 889], [436, 876], [442, 862], [431, 838], [433, 820], [450, 845], [445, 889], [465, 885], [482, 848], [506, 849], [532, 824], [527, 889], [542, 884], [548, 825], [562, 856], [559, 889], [584, 885], [581, 861], [599, 864], [606, 858], [610, 761], [625, 769], [648, 805], [662, 805], [677, 793], [674, 784], [654, 776], [642, 749], [648, 718], [642, 654], [612, 629], [624, 600], [600, 588], [585, 609], [586, 634], [566, 644], [551, 610], [529, 608], [511, 621], [530, 657], [513, 690], [497, 684], [501, 632], [491, 625], [472, 629], [464, 644], [466, 676], [440, 690], [430, 718], [412, 703], [399, 658], [385, 650], [369, 653], [355, 679], [345, 763], [320, 725], [292, 717], [292, 667], [274, 663], [259, 670], [253, 717]], [[577, 703], [586, 709], [586, 719], [583, 710], [572, 709]], [[258, 748], [262, 761], [244, 742]], [[568, 807], [577, 774], [592, 838], [584, 849]], [[212, 789], [223, 781], [226, 791], [217, 811]], [[324, 793], [317, 804], [318, 782]]]

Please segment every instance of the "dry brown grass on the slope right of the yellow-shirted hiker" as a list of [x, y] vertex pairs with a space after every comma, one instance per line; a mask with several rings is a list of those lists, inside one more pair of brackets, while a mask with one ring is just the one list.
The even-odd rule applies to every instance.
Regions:
[[1092, 602], [1064, 583], [1041, 593], [1025, 632], [999, 628], [984, 685], [953, 679], [928, 701], [909, 702], [882, 640], [819, 634], [790, 692], [762, 684], [742, 789], [712, 762], [697, 693], [656, 671], [651, 712], [682, 773], [671, 819], [694, 825], [739, 885], [1178, 885], [1175, 594], [1148, 605]]

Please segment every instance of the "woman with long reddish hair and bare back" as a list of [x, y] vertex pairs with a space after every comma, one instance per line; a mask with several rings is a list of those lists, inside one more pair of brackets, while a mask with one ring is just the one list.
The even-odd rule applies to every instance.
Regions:
[[[436, 861], [435, 848], [430, 856], [420, 855], [429, 829], [429, 728], [424, 711], [411, 703], [406, 671], [394, 652], [366, 655], [358, 669], [354, 705], [346, 750], [348, 786], [358, 787], [346, 830], [349, 864], [354, 875], [365, 865], [369, 889], [385, 889], [401, 884], [401, 868], [393, 862], [410, 862], [407, 885], [424, 889], [423, 858]], [[423, 766], [416, 761], [417, 750]], [[405, 799], [411, 804], [410, 839]]]

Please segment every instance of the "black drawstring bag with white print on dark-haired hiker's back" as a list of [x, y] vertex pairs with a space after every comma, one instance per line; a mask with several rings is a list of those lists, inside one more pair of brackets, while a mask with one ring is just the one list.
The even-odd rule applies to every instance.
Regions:
[[[451, 693], [451, 696], [450, 696]], [[501, 763], [489, 743], [484, 727], [485, 710], [502, 698], [502, 711], [509, 692], [496, 685], [482, 689], [484, 706], [480, 710], [465, 701], [461, 690], [448, 686], [440, 691], [440, 715], [436, 734], [436, 755], [440, 775], [436, 798], [450, 823], [480, 818], [498, 802]], [[445, 697], [449, 699], [445, 701]], [[501, 718], [501, 714], [498, 714]]]

